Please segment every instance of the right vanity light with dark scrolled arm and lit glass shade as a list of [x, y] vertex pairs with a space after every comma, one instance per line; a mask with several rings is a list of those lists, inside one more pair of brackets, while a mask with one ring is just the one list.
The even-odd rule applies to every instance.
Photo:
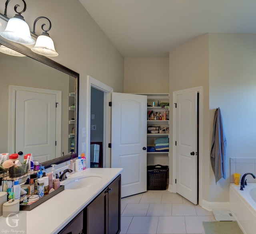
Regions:
[[35, 28], [36, 28], [36, 22], [39, 19], [46, 19], [49, 21], [49, 28], [48, 29], [44, 29], [45, 24], [42, 24], [41, 28], [43, 30], [42, 35], [40, 35], [37, 39], [36, 39], [36, 45], [31, 48], [31, 50], [35, 53], [38, 53], [40, 55], [45, 55], [45, 56], [50, 56], [50, 57], [55, 57], [58, 56], [58, 53], [56, 52], [55, 48], [54, 48], [54, 43], [52, 41], [52, 39], [50, 38], [50, 35], [48, 33], [48, 31], [52, 28], [52, 23], [50, 22], [50, 20], [44, 16], [40, 16], [38, 17], [35, 22], [34, 22], [34, 26], [33, 26], [33, 33], [35, 33]]

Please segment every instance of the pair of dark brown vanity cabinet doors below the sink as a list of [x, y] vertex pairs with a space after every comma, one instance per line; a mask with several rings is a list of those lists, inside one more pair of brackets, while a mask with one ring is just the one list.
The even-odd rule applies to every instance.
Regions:
[[121, 228], [121, 175], [84, 209], [85, 234], [118, 234]]

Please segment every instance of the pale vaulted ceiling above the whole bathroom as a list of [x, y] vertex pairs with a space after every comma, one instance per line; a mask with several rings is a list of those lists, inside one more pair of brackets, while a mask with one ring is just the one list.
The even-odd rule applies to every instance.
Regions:
[[204, 33], [256, 33], [256, 0], [80, 0], [124, 57], [168, 57]]

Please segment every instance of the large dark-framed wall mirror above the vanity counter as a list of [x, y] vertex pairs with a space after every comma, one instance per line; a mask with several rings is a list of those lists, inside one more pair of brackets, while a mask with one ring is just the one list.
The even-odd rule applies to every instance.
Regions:
[[[79, 74], [0, 37], [0, 153], [33, 153], [45, 167], [78, 150]], [[21, 153], [22, 152], [22, 153]]]

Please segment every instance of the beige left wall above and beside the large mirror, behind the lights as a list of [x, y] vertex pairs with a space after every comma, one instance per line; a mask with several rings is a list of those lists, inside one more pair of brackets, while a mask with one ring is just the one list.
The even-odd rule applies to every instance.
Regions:
[[[82, 138], [82, 128], [86, 127], [87, 75], [114, 88], [116, 92], [123, 92], [124, 58], [78, 0], [26, 0], [26, 4], [26, 12], [22, 15], [30, 30], [39, 16], [46, 16], [52, 22], [49, 34], [59, 53], [53, 60], [80, 74], [78, 144], [81, 152], [82, 142], [86, 141]], [[14, 15], [12, 6], [14, 3], [10, 2], [9, 18]], [[36, 33], [40, 34], [43, 23], [46, 22], [37, 22]]]

